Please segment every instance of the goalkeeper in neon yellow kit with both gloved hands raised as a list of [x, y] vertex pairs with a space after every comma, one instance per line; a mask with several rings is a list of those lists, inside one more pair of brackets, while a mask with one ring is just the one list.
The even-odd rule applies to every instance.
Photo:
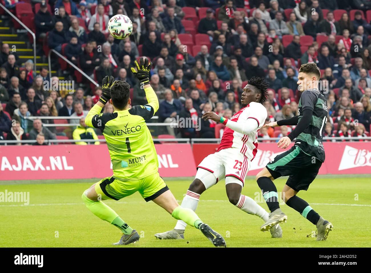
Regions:
[[[130, 85], [125, 81], [113, 82], [106, 76], [102, 82], [102, 95], [85, 118], [89, 127], [99, 128], [107, 142], [111, 156], [113, 176], [92, 185], [82, 194], [86, 207], [96, 216], [121, 230], [122, 237], [115, 245], [126, 245], [139, 240], [132, 229], [102, 200], [119, 200], [139, 192], [145, 201], [153, 201], [177, 220], [198, 228], [214, 246], [226, 246], [220, 234], [204, 224], [196, 213], [182, 208], [158, 174], [158, 159], [146, 121], [158, 110], [158, 99], [148, 79], [151, 62], [135, 60], [131, 71], [141, 82], [148, 100], [146, 105], [130, 109]], [[106, 103], [113, 104], [114, 113], [101, 114]]]

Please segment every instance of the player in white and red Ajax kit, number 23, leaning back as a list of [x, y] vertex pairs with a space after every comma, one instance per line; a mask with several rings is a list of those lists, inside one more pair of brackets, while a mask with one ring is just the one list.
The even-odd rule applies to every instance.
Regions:
[[[243, 88], [243, 107], [230, 120], [211, 111], [204, 113], [204, 120], [223, 123], [226, 129], [217, 152], [205, 157], [198, 165], [196, 177], [183, 198], [182, 207], [195, 211], [200, 195], [225, 178], [229, 201], [242, 211], [267, 221], [268, 212], [252, 198], [241, 194], [250, 162], [257, 152], [257, 130], [264, 125], [267, 118], [267, 110], [262, 104], [267, 98], [267, 87], [268, 83], [264, 78], [251, 78], [249, 84]], [[157, 233], [155, 237], [183, 239], [186, 225], [185, 222], [178, 221], [173, 230]], [[271, 230], [272, 237], [282, 237], [279, 225]]]

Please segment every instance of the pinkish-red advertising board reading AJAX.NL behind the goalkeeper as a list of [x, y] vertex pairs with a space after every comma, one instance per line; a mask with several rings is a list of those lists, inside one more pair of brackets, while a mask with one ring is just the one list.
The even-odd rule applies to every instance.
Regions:
[[[155, 144], [163, 177], [194, 176], [190, 144]], [[0, 146], [0, 181], [86, 179], [112, 175], [106, 144]]]

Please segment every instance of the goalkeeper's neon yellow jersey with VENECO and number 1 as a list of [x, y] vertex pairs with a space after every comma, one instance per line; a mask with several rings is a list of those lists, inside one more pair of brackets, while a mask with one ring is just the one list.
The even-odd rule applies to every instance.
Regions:
[[158, 172], [158, 158], [146, 121], [158, 110], [152, 87], [145, 88], [148, 104], [131, 109], [100, 114], [94, 105], [85, 118], [89, 127], [101, 129], [111, 156], [115, 179], [142, 179]]

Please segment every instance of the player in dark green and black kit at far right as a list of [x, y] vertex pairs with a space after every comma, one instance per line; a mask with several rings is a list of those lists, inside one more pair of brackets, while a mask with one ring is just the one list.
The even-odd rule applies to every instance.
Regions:
[[277, 143], [278, 147], [285, 149], [296, 138], [295, 145], [276, 156], [256, 176], [257, 183], [270, 209], [269, 220], [260, 227], [261, 231], [269, 230], [287, 219], [279, 207], [278, 192], [273, 183], [273, 180], [280, 176], [289, 176], [282, 190], [282, 199], [286, 205], [317, 226], [316, 240], [326, 240], [332, 228], [329, 221], [319, 216], [305, 200], [296, 196], [299, 191], [308, 189], [325, 161], [322, 135], [326, 127], [328, 110], [326, 98], [318, 90], [320, 77], [321, 72], [316, 64], [302, 65], [298, 75], [298, 89], [303, 92], [299, 100], [298, 116], [265, 125], [266, 127], [297, 126]]

